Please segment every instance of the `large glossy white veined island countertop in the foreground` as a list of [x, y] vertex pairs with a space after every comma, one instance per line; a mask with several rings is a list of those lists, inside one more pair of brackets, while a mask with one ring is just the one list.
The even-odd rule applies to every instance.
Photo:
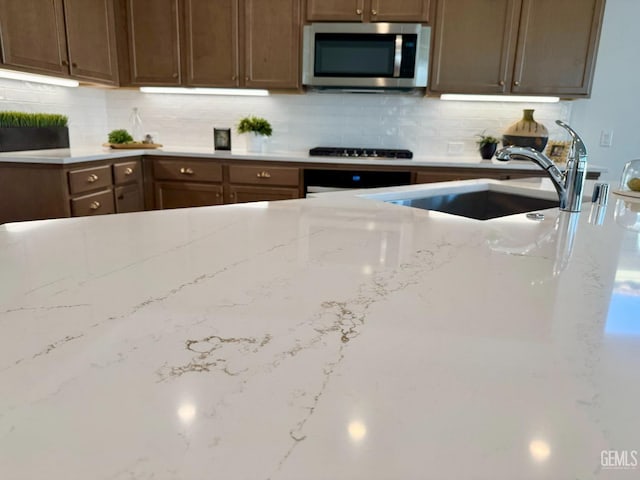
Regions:
[[637, 479], [636, 206], [0, 226], [0, 477]]

